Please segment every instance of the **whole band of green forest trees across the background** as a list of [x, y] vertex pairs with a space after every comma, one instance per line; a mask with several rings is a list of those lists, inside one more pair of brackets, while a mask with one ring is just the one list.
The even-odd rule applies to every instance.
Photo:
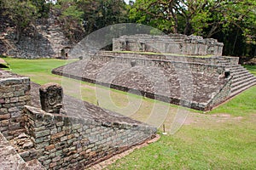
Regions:
[[256, 55], [255, 0], [0, 0], [0, 14], [15, 26], [17, 42], [55, 14], [73, 42], [105, 26], [141, 23], [166, 34], [216, 38], [224, 42], [224, 55]]

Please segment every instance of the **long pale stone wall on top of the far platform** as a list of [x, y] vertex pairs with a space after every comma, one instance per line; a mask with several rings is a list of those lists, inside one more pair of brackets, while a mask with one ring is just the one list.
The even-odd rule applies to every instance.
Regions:
[[224, 44], [212, 38], [170, 34], [137, 34], [113, 38], [113, 51], [155, 52], [162, 54], [222, 55]]

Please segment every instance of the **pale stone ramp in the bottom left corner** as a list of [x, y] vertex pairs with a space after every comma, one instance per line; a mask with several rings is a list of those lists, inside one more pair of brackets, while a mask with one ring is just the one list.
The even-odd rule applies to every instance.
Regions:
[[16, 152], [15, 148], [0, 133], [0, 169], [3, 170], [44, 170], [38, 160], [24, 161]]

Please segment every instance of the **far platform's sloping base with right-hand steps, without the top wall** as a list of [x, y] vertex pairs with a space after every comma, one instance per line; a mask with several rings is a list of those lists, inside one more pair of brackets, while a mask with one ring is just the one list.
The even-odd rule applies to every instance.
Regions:
[[[84, 71], [79, 75], [78, 72]], [[236, 57], [100, 51], [52, 71], [175, 105], [207, 111], [253, 86]]]

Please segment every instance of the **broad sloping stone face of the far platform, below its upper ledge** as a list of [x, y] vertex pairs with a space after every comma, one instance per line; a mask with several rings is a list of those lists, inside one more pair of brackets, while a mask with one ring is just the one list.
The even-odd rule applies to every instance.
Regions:
[[[132, 62], [135, 66], [131, 65]], [[210, 109], [220, 102], [215, 99], [218, 94], [226, 99], [230, 93], [230, 79], [224, 78], [221, 65], [143, 59], [137, 55], [96, 54], [56, 68], [53, 73], [119, 90], [137, 90], [152, 99], [198, 110]]]

